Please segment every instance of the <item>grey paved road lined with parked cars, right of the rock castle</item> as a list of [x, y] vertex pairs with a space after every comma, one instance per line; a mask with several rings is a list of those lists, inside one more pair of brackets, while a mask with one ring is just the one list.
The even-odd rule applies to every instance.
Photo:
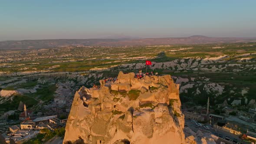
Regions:
[[[206, 129], [206, 128], [203, 128], [203, 126], [199, 127], [195, 123], [192, 123], [189, 120], [185, 120], [185, 125], [187, 125], [194, 132], [197, 132], [199, 129], [202, 129], [201, 130], [202, 132], [209, 131], [210, 133], [212, 133], [212, 134], [214, 134], [214, 135], [216, 135], [218, 137], [221, 137], [223, 139], [225, 139], [226, 137], [230, 137], [231, 140], [236, 139], [241, 144], [248, 144], [248, 143], [242, 142], [242, 140], [236, 134], [230, 134], [229, 132], [217, 130], [217, 129], [214, 129], [214, 128]], [[205, 124], [205, 125], [210, 127], [210, 124]], [[205, 131], [203, 131], [203, 130], [205, 130]]]

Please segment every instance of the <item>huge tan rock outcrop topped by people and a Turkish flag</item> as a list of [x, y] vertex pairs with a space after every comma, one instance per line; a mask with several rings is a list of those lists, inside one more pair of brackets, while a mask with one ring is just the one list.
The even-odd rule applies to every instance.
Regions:
[[137, 79], [119, 72], [117, 79], [75, 93], [64, 144], [185, 144], [179, 85], [171, 75]]

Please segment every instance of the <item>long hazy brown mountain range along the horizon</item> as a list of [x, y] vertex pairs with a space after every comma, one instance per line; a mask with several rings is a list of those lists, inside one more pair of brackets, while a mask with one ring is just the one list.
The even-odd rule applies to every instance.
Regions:
[[39, 39], [0, 42], [0, 49], [42, 49], [63, 46], [150, 46], [206, 43], [256, 42], [256, 38], [189, 36], [147, 39]]

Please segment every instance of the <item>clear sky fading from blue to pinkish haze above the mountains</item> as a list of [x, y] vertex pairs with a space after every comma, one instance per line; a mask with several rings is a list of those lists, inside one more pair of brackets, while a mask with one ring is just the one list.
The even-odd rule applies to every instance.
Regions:
[[256, 37], [256, 0], [0, 0], [0, 41]]

